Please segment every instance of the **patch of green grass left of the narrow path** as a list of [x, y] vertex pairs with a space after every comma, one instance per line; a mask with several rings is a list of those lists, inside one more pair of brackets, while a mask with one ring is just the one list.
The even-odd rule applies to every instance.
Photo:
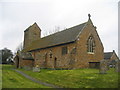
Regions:
[[11, 68], [11, 65], [2, 65], [2, 88], [48, 88], [32, 82]]

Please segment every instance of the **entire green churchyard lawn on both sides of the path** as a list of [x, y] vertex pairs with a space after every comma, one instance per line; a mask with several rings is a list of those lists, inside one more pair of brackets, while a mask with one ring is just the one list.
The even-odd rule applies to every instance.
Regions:
[[[3, 88], [48, 88], [32, 82], [19, 73], [11, 70], [12, 66], [3, 65]], [[107, 74], [99, 74], [98, 69], [48, 70], [40, 72], [18, 69], [37, 80], [63, 88], [117, 88], [118, 73], [110, 69]]]

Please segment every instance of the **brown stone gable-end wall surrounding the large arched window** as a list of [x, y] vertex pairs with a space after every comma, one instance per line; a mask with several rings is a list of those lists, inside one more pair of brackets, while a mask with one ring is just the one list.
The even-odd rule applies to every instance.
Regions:
[[[87, 40], [92, 35], [95, 40], [95, 51], [94, 53], [87, 52]], [[104, 47], [96, 31], [96, 27], [89, 21], [88, 25], [81, 32], [77, 42], [77, 62], [76, 67], [87, 68], [89, 62], [100, 62], [104, 58]]]

